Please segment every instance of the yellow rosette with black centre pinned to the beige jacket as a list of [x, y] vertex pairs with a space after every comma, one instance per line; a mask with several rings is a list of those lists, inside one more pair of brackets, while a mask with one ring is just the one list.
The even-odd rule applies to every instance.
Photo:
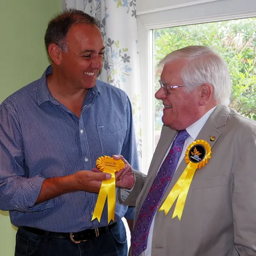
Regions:
[[178, 198], [172, 218], [178, 216], [179, 220], [181, 219], [189, 187], [196, 169], [204, 167], [210, 158], [211, 146], [207, 141], [196, 140], [188, 146], [185, 153], [185, 161], [188, 163], [188, 166], [182, 175], [180, 175], [179, 180], [177, 180], [176, 184], [173, 186], [159, 211], [164, 211], [165, 215], [168, 214], [175, 200]]

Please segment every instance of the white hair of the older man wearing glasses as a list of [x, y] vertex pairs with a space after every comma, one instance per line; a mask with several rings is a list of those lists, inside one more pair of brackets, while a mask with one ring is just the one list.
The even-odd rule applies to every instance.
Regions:
[[187, 64], [181, 70], [181, 77], [189, 91], [203, 83], [209, 83], [213, 88], [213, 97], [219, 104], [229, 104], [230, 75], [227, 63], [221, 56], [207, 46], [191, 45], [166, 55], [158, 64], [173, 60], [186, 60]]

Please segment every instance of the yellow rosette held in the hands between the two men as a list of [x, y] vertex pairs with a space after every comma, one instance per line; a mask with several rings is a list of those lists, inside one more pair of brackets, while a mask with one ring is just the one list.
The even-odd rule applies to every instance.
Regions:
[[115, 172], [124, 168], [124, 161], [121, 159], [115, 160], [112, 157], [99, 157], [96, 161], [97, 168], [106, 173], [111, 174], [111, 179], [103, 180], [100, 186], [99, 196], [95, 205], [92, 216], [92, 221], [96, 218], [100, 222], [106, 198], [108, 197], [108, 223], [115, 221], [115, 207], [116, 207], [116, 178]]

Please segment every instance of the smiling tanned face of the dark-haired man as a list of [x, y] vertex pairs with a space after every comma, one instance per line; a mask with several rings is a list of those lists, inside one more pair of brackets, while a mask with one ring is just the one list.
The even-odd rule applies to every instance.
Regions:
[[58, 70], [67, 84], [74, 88], [90, 89], [95, 86], [102, 68], [104, 45], [96, 26], [77, 24], [66, 36], [67, 52], [61, 51]]

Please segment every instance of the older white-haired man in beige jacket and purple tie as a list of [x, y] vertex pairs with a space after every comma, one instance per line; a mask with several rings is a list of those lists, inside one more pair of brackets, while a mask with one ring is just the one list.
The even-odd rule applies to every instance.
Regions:
[[160, 65], [161, 138], [124, 200], [136, 205], [132, 255], [256, 255], [256, 123], [227, 106], [227, 64], [189, 46]]

